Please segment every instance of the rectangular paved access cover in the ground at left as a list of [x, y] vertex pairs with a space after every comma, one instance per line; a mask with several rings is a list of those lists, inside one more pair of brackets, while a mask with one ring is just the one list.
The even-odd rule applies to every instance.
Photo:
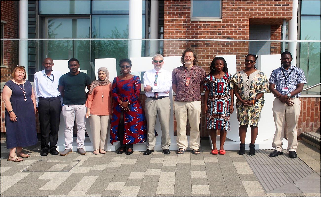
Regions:
[[69, 172], [80, 160], [39, 160], [23, 172]]

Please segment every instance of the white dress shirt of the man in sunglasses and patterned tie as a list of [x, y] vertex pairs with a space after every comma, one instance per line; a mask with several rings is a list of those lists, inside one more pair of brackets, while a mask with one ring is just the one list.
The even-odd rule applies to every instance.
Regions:
[[157, 86], [155, 86], [154, 82], [156, 72], [157, 70], [152, 69], [144, 73], [144, 87], [146, 87], [147, 85], [153, 87], [153, 91], [145, 93], [146, 97], [155, 96], [155, 92], [158, 92], [159, 97], [169, 96], [169, 93], [166, 94], [165, 92], [168, 92], [170, 87], [172, 86], [172, 73], [167, 70], [160, 69], [158, 71]]

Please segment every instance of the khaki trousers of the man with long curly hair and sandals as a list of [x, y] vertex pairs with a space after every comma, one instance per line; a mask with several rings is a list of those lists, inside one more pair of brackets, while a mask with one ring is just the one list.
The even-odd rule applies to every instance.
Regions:
[[187, 118], [191, 127], [191, 134], [189, 136], [189, 147], [198, 149], [201, 142], [200, 137], [200, 114], [201, 101], [181, 102], [175, 101], [175, 118], [177, 122], [177, 146], [178, 149], [187, 149], [188, 141], [186, 135]]

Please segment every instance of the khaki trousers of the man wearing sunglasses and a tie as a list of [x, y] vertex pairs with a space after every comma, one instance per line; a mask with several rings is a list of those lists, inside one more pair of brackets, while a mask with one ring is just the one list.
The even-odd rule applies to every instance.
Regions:
[[169, 149], [169, 122], [170, 122], [170, 99], [169, 97], [154, 100], [146, 98], [145, 115], [147, 119], [147, 149], [154, 150], [156, 144], [155, 124], [156, 117], [160, 121], [161, 129], [161, 148]]

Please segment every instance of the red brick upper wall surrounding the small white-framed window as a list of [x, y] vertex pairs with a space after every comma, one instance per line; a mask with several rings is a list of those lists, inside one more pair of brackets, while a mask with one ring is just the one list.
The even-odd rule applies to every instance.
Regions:
[[[290, 20], [292, 1], [223, 1], [222, 21], [191, 21], [190, 1], [164, 1], [165, 39], [248, 39], [249, 23], [271, 25], [271, 39], [281, 39], [282, 20]], [[165, 41], [164, 55], [181, 55], [192, 46], [198, 65], [207, 72], [216, 54], [237, 55], [237, 70], [243, 67], [248, 42]], [[281, 45], [271, 43], [271, 54], [279, 54]]]

